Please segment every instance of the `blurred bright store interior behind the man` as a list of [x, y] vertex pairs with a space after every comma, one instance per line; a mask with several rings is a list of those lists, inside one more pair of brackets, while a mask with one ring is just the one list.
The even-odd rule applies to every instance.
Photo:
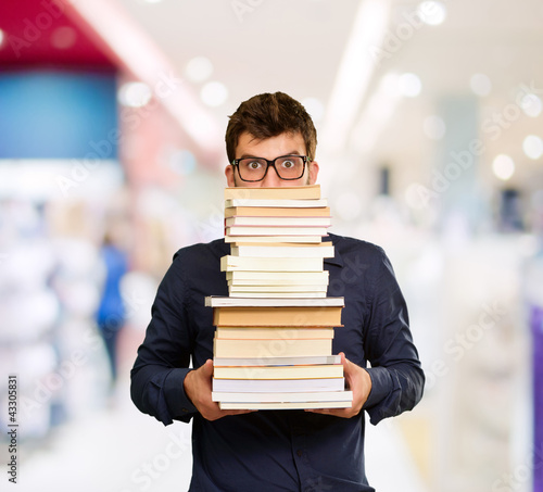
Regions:
[[18, 490], [187, 490], [190, 426], [139, 414], [129, 369], [175, 251], [223, 235], [228, 115], [280, 90], [317, 126], [331, 230], [391, 257], [427, 373], [368, 426], [370, 482], [543, 491], [542, 47], [539, 0], [2, 0]]

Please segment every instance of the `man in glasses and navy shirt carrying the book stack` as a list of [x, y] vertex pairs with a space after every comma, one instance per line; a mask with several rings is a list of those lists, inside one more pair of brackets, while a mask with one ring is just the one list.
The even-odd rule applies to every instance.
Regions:
[[[315, 127], [285, 93], [243, 102], [230, 117], [226, 147], [228, 186], [302, 186], [317, 179]], [[204, 298], [228, 295], [219, 261], [229, 244], [220, 239], [175, 254], [138, 350], [131, 398], [164, 425], [193, 418], [190, 491], [374, 491], [364, 468], [364, 413], [377, 424], [412, 409], [425, 377], [384, 252], [331, 234], [327, 240], [336, 252], [325, 260], [328, 295], [345, 300], [333, 353], [342, 354], [354, 394], [351, 408], [219, 409], [211, 400], [214, 327]]]

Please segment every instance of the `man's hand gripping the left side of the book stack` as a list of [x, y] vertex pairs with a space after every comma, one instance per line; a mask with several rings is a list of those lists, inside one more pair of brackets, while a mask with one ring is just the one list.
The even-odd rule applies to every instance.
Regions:
[[222, 411], [218, 403], [212, 401], [211, 378], [213, 376], [213, 361], [209, 358], [205, 364], [198, 369], [187, 374], [184, 381], [185, 393], [190, 399], [192, 404], [202, 414], [202, 417], [207, 420], [216, 420], [227, 415], [248, 414], [254, 411]]

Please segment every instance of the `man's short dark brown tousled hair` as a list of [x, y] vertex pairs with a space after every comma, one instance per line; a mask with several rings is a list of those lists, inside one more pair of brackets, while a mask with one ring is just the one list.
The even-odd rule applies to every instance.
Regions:
[[283, 92], [254, 96], [230, 116], [225, 137], [229, 162], [236, 159], [236, 147], [245, 131], [258, 140], [301, 134], [310, 161], [315, 159], [317, 130], [313, 121], [300, 102]]

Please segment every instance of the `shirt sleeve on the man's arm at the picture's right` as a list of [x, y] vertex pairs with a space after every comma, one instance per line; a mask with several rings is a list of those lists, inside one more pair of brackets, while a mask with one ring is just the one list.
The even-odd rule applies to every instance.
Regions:
[[409, 329], [407, 306], [392, 265], [380, 260], [368, 276], [365, 352], [371, 367], [371, 391], [364, 404], [370, 422], [412, 409], [422, 398], [425, 374]]

